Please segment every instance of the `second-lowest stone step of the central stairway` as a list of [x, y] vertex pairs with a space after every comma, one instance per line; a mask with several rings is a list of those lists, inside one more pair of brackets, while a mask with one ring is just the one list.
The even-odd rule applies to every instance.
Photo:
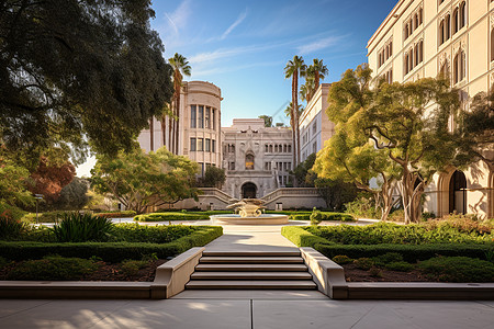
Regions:
[[308, 272], [194, 272], [191, 280], [312, 280]]

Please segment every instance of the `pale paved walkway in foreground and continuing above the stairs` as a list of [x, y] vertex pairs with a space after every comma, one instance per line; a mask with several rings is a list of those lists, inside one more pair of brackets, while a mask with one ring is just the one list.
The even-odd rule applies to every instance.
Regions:
[[[225, 226], [209, 250], [295, 248], [281, 226]], [[186, 291], [164, 300], [0, 299], [0, 328], [493, 328], [494, 300], [333, 300], [316, 291]]]

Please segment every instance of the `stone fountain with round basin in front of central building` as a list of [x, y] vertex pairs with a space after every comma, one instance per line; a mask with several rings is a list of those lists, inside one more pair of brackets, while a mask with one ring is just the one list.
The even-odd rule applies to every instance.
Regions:
[[259, 198], [243, 198], [226, 208], [235, 208], [236, 214], [212, 215], [213, 224], [218, 225], [258, 225], [258, 224], [288, 224], [289, 216], [283, 214], [262, 214], [263, 201]]

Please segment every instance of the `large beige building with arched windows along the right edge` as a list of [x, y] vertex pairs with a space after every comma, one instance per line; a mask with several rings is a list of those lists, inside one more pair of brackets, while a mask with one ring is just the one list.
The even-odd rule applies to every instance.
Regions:
[[[494, 82], [492, 0], [400, 0], [368, 43], [369, 66], [388, 81], [415, 81], [449, 73], [462, 106]], [[494, 150], [486, 150], [494, 151]], [[494, 216], [494, 175], [483, 162], [437, 174], [425, 211], [438, 216]]]

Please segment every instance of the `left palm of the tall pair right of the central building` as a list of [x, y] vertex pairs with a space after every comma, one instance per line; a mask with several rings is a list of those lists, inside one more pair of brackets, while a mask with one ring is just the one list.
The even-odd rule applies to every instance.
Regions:
[[284, 67], [284, 78], [292, 78], [292, 112], [296, 135], [296, 146], [293, 145], [293, 168], [299, 164], [297, 161], [300, 160], [299, 111], [294, 111], [294, 109], [299, 109], [299, 75], [304, 76], [306, 69], [307, 66], [304, 64], [302, 56], [293, 56], [293, 59], [289, 60]]

